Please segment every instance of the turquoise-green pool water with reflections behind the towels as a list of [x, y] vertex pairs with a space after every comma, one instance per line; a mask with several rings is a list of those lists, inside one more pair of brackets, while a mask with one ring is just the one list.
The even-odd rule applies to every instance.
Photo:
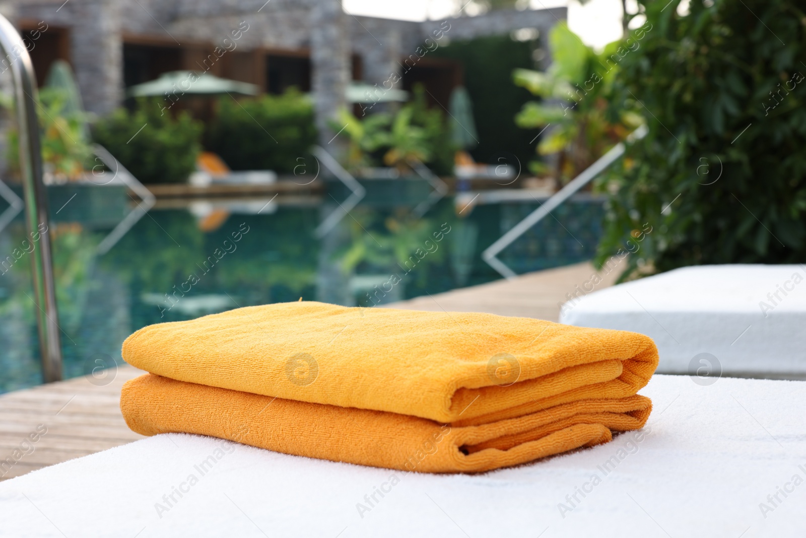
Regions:
[[[428, 189], [414, 187], [373, 188], [323, 236], [317, 228], [344, 198], [337, 188], [272, 202], [160, 202], [102, 255], [98, 244], [131, 211], [126, 192], [52, 190], [64, 377], [121, 364], [123, 340], [150, 323], [300, 297], [371, 306], [490, 282], [499, 275], [480, 253], [539, 205], [498, 203], [457, 215], [443, 198], [415, 219]], [[0, 201], [0, 211], [6, 207]], [[601, 202], [575, 199], [552, 215], [501, 259], [518, 273], [589, 259]], [[18, 215], [0, 232], [0, 260], [23, 240]], [[30, 259], [17, 252], [23, 256], [0, 269], [0, 392], [41, 382]]]

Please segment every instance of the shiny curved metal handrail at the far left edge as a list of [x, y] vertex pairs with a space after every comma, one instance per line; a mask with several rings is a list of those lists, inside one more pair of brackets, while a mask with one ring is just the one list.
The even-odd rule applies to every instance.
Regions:
[[36, 117], [36, 83], [31, 56], [14, 25], [0, 15], [0, 63], [8, 65], [14, 81], [14, 101], [19, 129], [19, 171], [23, 180], [25, 224], [31, 239], [39, 236], [31, 252], [39, 351], [44, 382], [61, 379], [61, 339], [53, 282], [53, 257], [48, 228], [48, 193], [42, 181], [42, 151]]

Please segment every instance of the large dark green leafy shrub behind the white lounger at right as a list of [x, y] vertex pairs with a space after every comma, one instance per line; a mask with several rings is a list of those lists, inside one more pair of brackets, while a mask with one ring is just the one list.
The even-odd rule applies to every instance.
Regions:
[[[806, 260], [806, 15], [787, 0], [639, 0], [651, 28], [620, 63], [614, 106], [650, 134], [600, 181], [610, 193], [597, 262], [624, 248], [683, 265]], [[640, 101], [638, 101], [640, 99]]]

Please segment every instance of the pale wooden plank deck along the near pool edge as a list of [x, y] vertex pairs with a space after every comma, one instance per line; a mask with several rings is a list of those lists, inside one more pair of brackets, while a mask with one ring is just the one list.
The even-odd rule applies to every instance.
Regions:
[[[556, 321], [566, 294], [594, 273], [590, 264], [570, 265], [388, 306]], [[605, 275], [597, 289], [612, 285], [618, 273], [614, 269]], [[105, 386], [77, 377], [0, 395], [0, 480], [141, 439], [127, 427], [118, 407], [123, 383], [141, 373], [123, 365]], [[31, 434], [36, 437], [43, 431], [44, 435], [31, 442]]]

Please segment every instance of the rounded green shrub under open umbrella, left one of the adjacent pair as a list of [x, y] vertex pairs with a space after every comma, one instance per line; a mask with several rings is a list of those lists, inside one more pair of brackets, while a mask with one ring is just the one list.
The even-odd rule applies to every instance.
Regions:
[[[140, 130], [142, 127], [142, 130]], [[134, 111], [118, 109], [93, 126], [93, 139], [143, 183], [182, 183], [202, 151], [202, 123], [183, 111], [176, 119], [142, 99]]]

